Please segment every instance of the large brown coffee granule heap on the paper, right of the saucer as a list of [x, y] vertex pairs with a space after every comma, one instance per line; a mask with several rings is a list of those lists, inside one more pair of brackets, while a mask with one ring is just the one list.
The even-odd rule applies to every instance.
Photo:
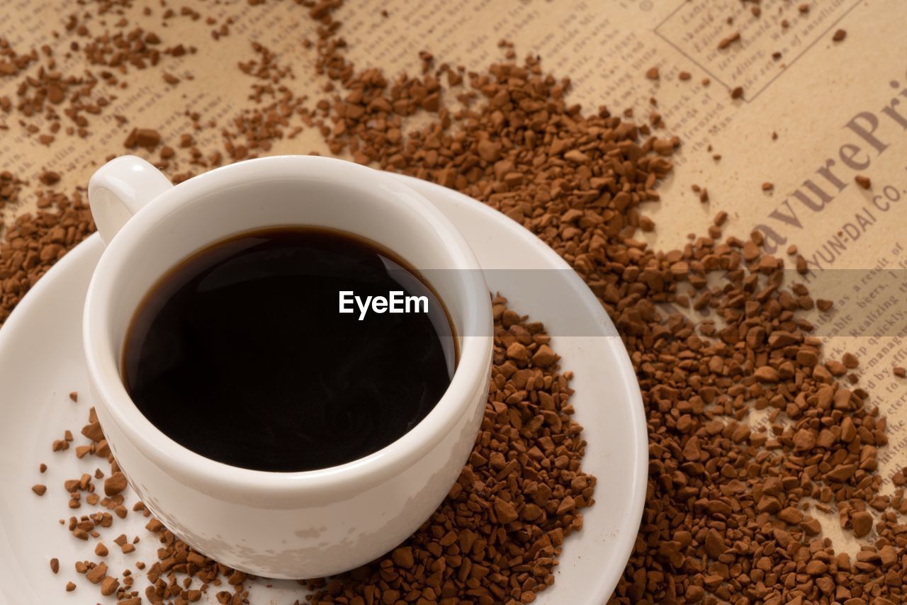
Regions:
[[[355, 89], [360, 83], [343, 64], [343, 83]], [[513, 76], [533, 84], [511, 87]], [[457, 172], [448, 176], [458, 155], [437, 153], [430, 164], [425, 162], [427, 150], [447, 150], [453, 143], [443, 124], [414, 132], [408, 144], [385, 151], [372, 132], [341, 115], [344, 136], [329, 141], [346, 140], [365, 150], [376, 165], [448, 184], [512, 216], [568, 259], [609, 310], [637, 368], [652, 453], [638, 549], [614, 600], [775, 603], [816, 600], [825, 590], [844, 600], [860, 599], [866, 590], [901, 600], [901, 584], [878, 582], [887, 571], [866, 566], [871, 559], [851, 562], [815, 537], [820, 526], [809, 503], [814, 501], [816, 510], [834, 506], [844, 514], [844, 528], [852, 529], [853, 513], [873, 501], [881, 485], [873, 471], [876, 448], [885, 443], [884, 422], [866, 403], [868, 394], [839, 383], [836, 376], [844, 376], [844, 364], [823, 360], [821, 341], [808, 335], [811, 327], [799, 314], [818, 304], [805, 285], [783, 284], [783, 262], [762, 253], [758, 233], [745, 240], [698, 238], [688, 249], [652, 250], [633, 235], [640, 224], [638, 205], [657, 200], [657, 192], [639, 190], [639, 198], [621, 198], [624, 203], [615, 208], [611, 203], [621, 188], [583, 196], [579, 192], [586, 188], [579, 185], [581, 177], [571, 175], [570, 161], [558, 164], [568, 170], [556, 177], [552, 172], [549, 181], [545, 167], [551, 156], [562, 158], [577, 148], [585, 156], [578, 166], [588, 167], [592, 175], [620, 178], [608, 170], [611, 160], [604, 150], [610, 148], [597, 147], [589, 134], [598, 125], [597, 116], [576, 108], [569, 113], [569, 126], [547, 122], [545, 144], [526, 147], [509, 141], [526, 141], [525, 124], [531, 118], [521, 116], [516, 126], [493, 121], [499, 111], [495, 99], [502, 99], [507, 112], [519, 111], [506, 105], [518, 90], [527, 95], [521, 104], [528, 99], [545, 106], [549, 116], [559, 115], [561, 105], [551, 107], [551, 102], [561, 102], [557, 84], [534, 59], [523, 67], [494, 65], [490, 77], [473, 79], [487, 106], [473, 104], [456, 119], [458, 126], [468, 125], [456, 131], [456, 142], [463, 151], [475, 149], [480, 140], [486, 147], [500, 147], [493, 161], [475, 166], [470, 179]], [[607, 112], [599, 117], [614, 120], [601, 125], [614, 141], [620, 122]], [[627, 128], [631, 143], [645, 127]], [[427, 148], [425, 141], [432, 141]], [[645, 154], [630, 163], [637, 171], [651, 165]], [[532, 179], [512, 179], [508, 185], [505, 177], [521, 170]], [[653, 179], [637, 172], [635, 182], [657, 182], [663, 174]], [[555, 179], [559, 196], [552, 198], [547, 188]], [[575, 188], [573, 179], [578, 179]], [[572, 192], [566, 200], [565, 191]], [[564, 229], [560, 219], [567, 210], [581, 212], [588, 226]], [[628, 222], [610, 226], [617, 216]], [[677, 263], [682, 270], [668, 270]], [[805, 259], [798, 255], [798, 270], [801, 263], [805, 270]], [[628, 273], [628, 268], [635, 270]], [[724, 288], [706, 287], [709, 268], [731, 269]], [[661, 302], [683, 306], [684, 301], [715, 314], [721, 327], [715, 320], [697, 325], [658, 310]], [[746, 422], [754, 409], [770, 411], [766, 428]], [[820, 428], [838, 424], [844, 427], [841, 437]], [[900, 506], [901, 496], [892, 502]], [[857, 517], [859, 523], [862, 517]], [[879, 534], [889, 542], [894, 540], [891, 528], [883, 525]], [[903, 552], [902, 546], [896, 552]], [[825, 561], [834, 561], [834, 567]], [[852, 565], [861, 572], [849, 573]]]

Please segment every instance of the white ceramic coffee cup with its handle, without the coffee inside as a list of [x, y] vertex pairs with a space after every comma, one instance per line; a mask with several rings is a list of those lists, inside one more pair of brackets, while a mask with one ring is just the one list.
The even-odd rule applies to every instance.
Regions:
[[[297, 579], [373, 561], [434, 512], [478, 433], [493, 348], [482, 271], [439, 210], [380, 171], [314, 156], [242, 161], [176, 186], [124, 156], [94, 173], [88, 194], [107, 244], [83, 317], [93, 405], [123, 473], [161, 522], [232, 568]], [[215, 462], [161, 433], [122, 384], [122, 346], [141, 299], [180, 260], [243, 231], [290, 225], [341, 229], [431, 270], [460, 358], [431, 413], [393, 444], [331, 468], [268, 473]]]

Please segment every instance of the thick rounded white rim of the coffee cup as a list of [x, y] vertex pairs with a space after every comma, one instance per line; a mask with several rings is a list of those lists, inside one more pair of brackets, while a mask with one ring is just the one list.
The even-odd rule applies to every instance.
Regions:
[[[151, 423], [128, 395], [120, 370], [121, 346], [112, 346], [107, 318], [115, 304], [113, 276], [122, 272], [148, 231], [179, 212], [180, 206], [232, 186], [268, 181], [317, 181], [343, 184], [369, 179], [375, 196], [393, 198], [400, 211], [433, 229], [435, 240], [458, 270], [466, 292], [460, 358], [450, 385], [432, 411], [409, 432], [384, 448], [346, 464], [324, 469], [271, 472], [232, 466], [181, 445]], [[231, 233], [225, 233], [229, 237]], [[200, 248], [203, 244], [200, 246]], [[134, 309], [132, 309], [134, 313]], [[455, 321], [455, 318], [452, 317]], [[83, 347], [88, 373], [101, 405], [122, 433], [154, 464], [178, 469], [188, 481], [256, 494], [300, 493], [317, 489], [361, 491], [401, 472], [441, 441], [458, 415], [474, 405], [474, 393], [490, 372], [493, 352], [491, 298], [478, 260], [463, 235], [441, 210], [405, 183], [359, 164], [320, 156], [282, 155], [239, 161], [204, 172], [166, 190], [128, 220], [104, 249], [91, 279], [83, 311]], [[487, 335], [487, 336], [481, 336]], [[115, 350], [114, 350], [115, 349]]]

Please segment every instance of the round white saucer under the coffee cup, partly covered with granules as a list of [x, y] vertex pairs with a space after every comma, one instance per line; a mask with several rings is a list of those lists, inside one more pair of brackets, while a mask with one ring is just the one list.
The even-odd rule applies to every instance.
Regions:
[[[401, 178], [453, 220], [483, 269], [508, 269], [486, 273], [490, 288], [509, 298], [517, 312], [544, 322], [554, 335], [552, 346], [562, 357], [561, 366], [575, 373], [572, 403], [589, 442], [582, 465], [599, 479], [596, 503], [586, 509], [582, 531], [565, 542], [555, 585], [535, 602], [600, 605], [629, 558], [646, 493], [646, 422], [629, 357], [589, 288], [541, 240], [460, 193]], [[77, 540], [58, 523], [71, 513], [94, 512], [87, 504], [70, 511], [63, 481], [92, 473], [99, 459], [78, 460], [73, 450], [51, 451], [54, 439], [61, 439], [66, 429], [76, 435], [73, 445], [85, 441], [79, 431], [92, 403], [83, 370], [82, 307], [102, 248], [101, 239], [93, 235], [73, 249], [32, 288], [0, 329], [0, 595], [6, 603], [112, 602], [73, 567], [75, 561], [99, 560], [93, 553], [96, 541]], [[554, 270], [539, 279], [541, 274], [521, 274], [518, 269]], [[77, 404], [69, 399], [71, 391], [79, 393]], [[49, 467], [44, 474], [38, 473], [40, 463]], [[107, 464], [101, 466], [107, 470]], [[44, 497], [32, 493], [34, 483], [47, 485]], [[132, 493], [127, 492], [126, 502], [135, 502]], [[134, 573], [135, 561], [149, 565], [157, 561], [157, 541], [144, 529], [145, 522], [141, 514], [130, 512], [102, 530], [101, 540], [112, 547], [105, 561], [121, 579], [127, 568]], [[141, 537], [130, 555], [120, 554], [113, 544], [121, 533], [130, 540]], [[54, 557], [60, 560], [57, 575], [49, 565]], [[67, 581], [78, 588], [65, 592]], [[135, 587], [142, 597], [145, 586], [140, 572]], [[201, 602], [216, 603], [216, 591], [209, 590], [207, 601]], [[249, 598], [255, 604], [286, 604], [304, 595], [296, 582], [258, 580], [252, 583]]]

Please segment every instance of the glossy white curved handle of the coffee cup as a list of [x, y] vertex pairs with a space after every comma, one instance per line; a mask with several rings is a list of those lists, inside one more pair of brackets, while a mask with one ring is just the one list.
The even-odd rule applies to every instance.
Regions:
[[149, 162], [134, 155], [108, 161], [88, 181], [88, 203], [104, 243], [110, 243], [127, 220], [173, 183]]

